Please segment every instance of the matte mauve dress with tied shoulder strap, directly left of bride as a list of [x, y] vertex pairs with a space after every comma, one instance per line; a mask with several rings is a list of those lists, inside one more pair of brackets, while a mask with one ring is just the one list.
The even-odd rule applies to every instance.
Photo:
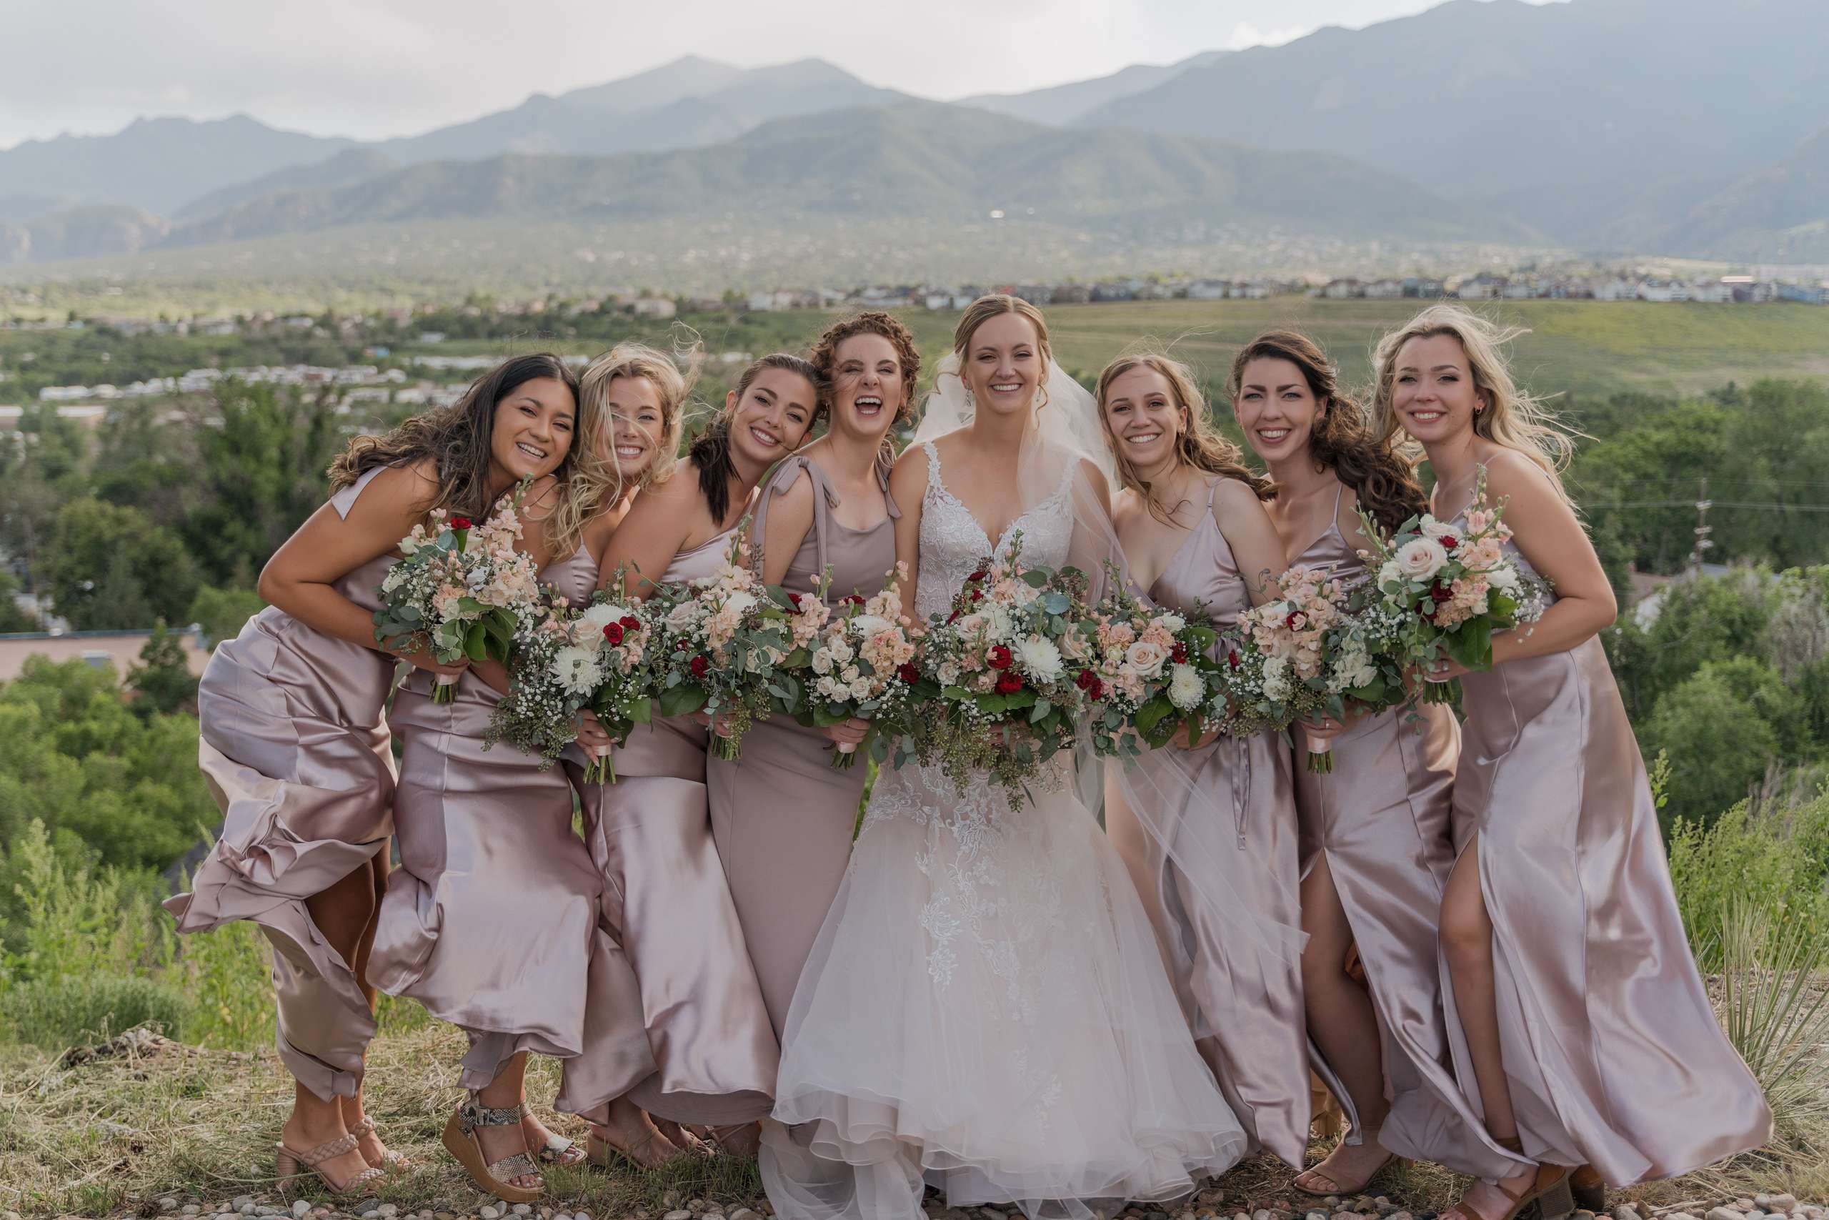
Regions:
[[[812, 529], [801, 541], [781, 587], [808, 593], [832, 569], [829, 604], [852, 593], [872, 596], [896, 565], [900, 516], [883, 487], [889, 516], [874, 529], [854, 530], [832, 519], [838, 494], [810, 459], [788, 457], [763, 488], [752, 538], [763, 538], [770, 501], [799, 479], [814, 487]], [[761, 552], [752, 556], [761, 567]], [[711, 834], [737, 904], [750, 962], [775, 1037], [799, 982], [838, 883], [850, 861], [850, 836], [863, 801], [869, 766], [832, 766], [832, 739], [792, 719], [755, 724], [735, 763], [706, 761]]]

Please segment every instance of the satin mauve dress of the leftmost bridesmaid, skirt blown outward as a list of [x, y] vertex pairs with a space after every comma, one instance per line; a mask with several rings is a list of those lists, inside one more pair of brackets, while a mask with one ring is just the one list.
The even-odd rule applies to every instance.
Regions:
[[[349, 516], [380, 466], [331, 496]], [[333, 587], [373, 611], [391, 556]], [[223, 810], [177, 931], [252, 920], [273, 942], [280, 1061], [318, 1097], [353, 1097], [375, 1035], [355, 971], [324, 940], [305, 898], [375, 854], [393, 832], [393, 757], [382, 704], [393, 658], [267, 607], [218, 644], [198, 684], [198, 765]]]

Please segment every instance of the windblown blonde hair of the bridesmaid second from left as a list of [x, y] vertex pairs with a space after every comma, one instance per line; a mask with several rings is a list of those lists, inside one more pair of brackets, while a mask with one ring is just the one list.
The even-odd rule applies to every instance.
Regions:
[[[609, 386], [618, 377], [642, 377], [655, 388], [660, 401], [660, 435], [651, 435], [655, 443], [653, 459], [647, 470], [636, 479], [636, 487], [666, 483], [679, 465], [680, 433], [686, 428], [686, 399], [699, 380], [702, 348], [693, 344], [680, 359], [647, 344], [616, 344], [598, 359], [591, 360], [578, 379], [578, 474], [572, 483], [580, 487], [578, 496], [567, 496], [558, 512], [552, 514], [556, 538], [572, 538], [572, 547], [583, 534], [585, 523], [605, 507], [622, 499], [622, 472], [615, 459], [616, 421], [609, 410]], [[633, 423], [633, 421], [631, 421]], [[589, 426], [587, 426], [589, 424]], [[576, 518], [576, 519], [574, 519]], [[572, 532], [576, 530], [576, 536]]]

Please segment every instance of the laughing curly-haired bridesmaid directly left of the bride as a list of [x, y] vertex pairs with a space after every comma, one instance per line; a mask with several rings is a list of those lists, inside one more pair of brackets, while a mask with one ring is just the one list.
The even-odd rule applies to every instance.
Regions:
[[[763, 582], [808, 593], [830, 569], [827, 602], [874, 594], [896, 565], [889, 496], [891, 432], [914, 410], [914, 335], [887, 313], [827, 327], [814, 346], [830, 426], [768, 477], [750, 527]], [[832, 743], [858, 744], [863, 721], [801, 728], [755, 724], [735, 763], [710, 759], [711, 834], [763, 984], [775, 1037], [794, 984], [850, 861], [867, 766], [832, 766]]]

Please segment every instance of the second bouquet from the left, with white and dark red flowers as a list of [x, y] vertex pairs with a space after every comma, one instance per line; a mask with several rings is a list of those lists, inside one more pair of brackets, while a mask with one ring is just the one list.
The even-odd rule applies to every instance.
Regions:
[[[514, 637], [508, 693], [490, 713], [483, 748], [507, 741], [540, 757], [540, 770], [578, 739], [578, 715], [591, 712], [615, 744], [653, 717], [651, 627], [640, 604], [596, 591], [583, 607], [552, 594], [547, 613]], [[591, 759], [585, 783], [616, 783], [609, 755]]]

